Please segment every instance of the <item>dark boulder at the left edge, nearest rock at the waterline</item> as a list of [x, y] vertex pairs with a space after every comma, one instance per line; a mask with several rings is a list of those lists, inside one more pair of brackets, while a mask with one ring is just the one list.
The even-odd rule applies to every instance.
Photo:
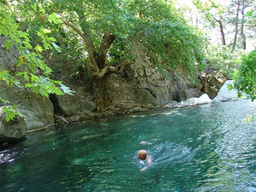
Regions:
[[0, 144], [5, 142], [19, 141], [26, 138], [26, 123], [23, 117], [15, 117], [6, 122], [6, 113], [0, 108]]

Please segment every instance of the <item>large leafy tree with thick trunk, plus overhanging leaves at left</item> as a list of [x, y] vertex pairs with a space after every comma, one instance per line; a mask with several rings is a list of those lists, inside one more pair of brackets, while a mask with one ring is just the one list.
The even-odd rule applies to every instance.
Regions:
[[[57, 85], [71, 93], [61, 82], [49, 78], [52, 71], [41, 55], [43, 50], [61, 50], [51, 33], [70, 41], [77, 39], [76, 46], [84, 49], [81, 57], [89, 64], [83, 66], [91, 73], [92, 93], [100, 109], [110, 105], [111, 74], [122, 72], [134, 61], [136, 42], [146, 47], [159, 69], [180, 67], [192, 73], [202, 64], [199, 33], [167, 0], [6, 0], [1, 4], [0, 35], [10, 38], [5, 48], [16, 43], [21, 54], [18, 66], [27, 66], [16, 75], [23, 76], [28, 81], [25, 86], [43, 96], [62, 94]], [[38, 69], [42, 75], [36, 75]], [[14, 82], [8, 71], [2, 74], [3, 79]]]

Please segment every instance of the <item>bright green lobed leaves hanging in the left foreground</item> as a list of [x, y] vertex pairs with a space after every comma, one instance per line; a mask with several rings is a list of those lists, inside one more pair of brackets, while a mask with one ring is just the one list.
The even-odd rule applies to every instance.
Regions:
[[[26, 18], [25, 13], [17, 10], [17, 12], [13, 11], [12, 8], [15, 10], [17, 8], [17, 4], [12, 3], [10, 6], [6, 5], [7, 3], [8, 1], [6, 1], [5, 4], [0, 2], [0, 36], [3, 35], [7, 37], [4, 49], [8, 50], [10, 46], [15, 45], [20, 52], [17, 67], [24, 66], [25, 70], [17, 73], [16, 76], [23, 76], [26, 82], [25, 87], [30, 87], [35, 93], [40, 93], [43, 96], [48, 97], [50, 93], [72, 94], [73, 91], [65, 87], [61, 81], [54, 81], [49, 78], [52, 70], [45, 64], [43, 56], [41, 55], [41, 52], [46, 49], [54, 48], [59, 51], [59, 47], [54, 43], [56, 42], [55, 38], [48, 36], [51, 30], [43, 26], [45, 19], [47, 19], [49, 23], [61, 23], [59, 16], [56, 13], [47, 15], [40, 4], [33, 4], [29, 6], [32, 10], [26, 8], [26, 10], [29, 10], [26, 16], [31, 13], [40, 15], [39, 18], [41, 20], [41, 25], [38, 26], [36, 24], [35, 28], [37, 28], [38, 37], [41, 38], [40, 42], [43, 44], [43, 49], [40, 44], [35, 46], [32, 44], [29, 33], [20, 30], [22, 28], [20, 23], [24, 21], [24, 18]], [[38, 73], [40, 72], [42, 75], [38, 76]], [[6, 84], [9, 86], [12, 86], [13, 84], [18, 87], [21, 86], [20, 82], [10, 75], [8, 70], [0, 71], [0, 79], [6, 81]], [[1, 98], [1, 101], [5, 100]], [[6, 103], [7, 101], [5, 101], [5, 104]], [[15, 115], [23, 116], [18, 112], [16, 106], [5, 106], [2, 110], [7, 113], [7, 121], [12, 120]]]

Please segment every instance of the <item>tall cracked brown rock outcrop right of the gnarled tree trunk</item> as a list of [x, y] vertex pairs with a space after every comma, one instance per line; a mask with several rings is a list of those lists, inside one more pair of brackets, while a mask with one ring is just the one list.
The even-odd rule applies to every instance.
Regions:
[[[197, 90], [190, 90], [187, 86], [189, 82], [180, 75], [168, 73], [171, 80], [163, 78], [152, 67], [148, 57], [143, 55], [143, 46], [139, 43], [133, 47], [135, 62], [126, 70], [127, 76], [136, 82], [136, 102], [139, 104], [154, 106], [163, 105], [173, 100], [185, 101], [187, 98], [199, 97]], [[143, 91], [142, 91], [143, 90]], [[175, 90], [183, 90], [183, 96], [177, 96]], [[143, 94], [143, 95], [142, 95]], [[144, 97], [145, 96], [145, 97]]]

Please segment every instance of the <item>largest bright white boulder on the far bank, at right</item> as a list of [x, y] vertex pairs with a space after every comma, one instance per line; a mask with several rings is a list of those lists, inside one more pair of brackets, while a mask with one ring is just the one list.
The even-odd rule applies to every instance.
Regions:
[[229, 90], [229, 88], [227, 88], [227, 85], [229, 84], [234, 84], [233, 80], [229, 80], [226, 81], [224, 83], [224, 85], [222, 85], [222, 87], [220, 88], [217, 96], [213, 99], [213, 101], [229, 101], [232, 99], [238, 99], [238, 95], [237, 95], [237, 90], [232, 89]]

